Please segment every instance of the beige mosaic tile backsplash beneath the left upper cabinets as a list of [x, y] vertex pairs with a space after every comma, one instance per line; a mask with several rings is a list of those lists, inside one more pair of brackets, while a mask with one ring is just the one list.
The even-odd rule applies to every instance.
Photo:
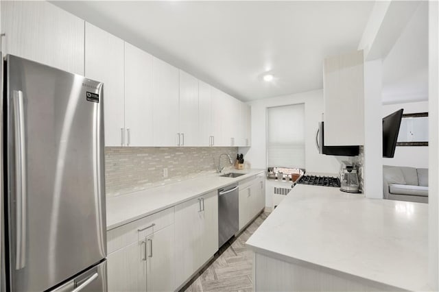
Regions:
[[[105, 147], [106, 195], [115, 196], [214, 173], [219, 154], [237, 147]], [[233, 166], [226, 156], [221, 165]], [[163, 169], [168, 176], [163, 178]]]

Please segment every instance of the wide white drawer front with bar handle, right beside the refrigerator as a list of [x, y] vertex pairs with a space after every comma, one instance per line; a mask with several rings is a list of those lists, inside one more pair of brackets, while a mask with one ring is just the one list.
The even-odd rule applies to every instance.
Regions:
[[108, 254], [136, 241], [143, 241], [146, 236], [172, 223], [174, 223], [174, 207], [112, 229], [107, 232]]

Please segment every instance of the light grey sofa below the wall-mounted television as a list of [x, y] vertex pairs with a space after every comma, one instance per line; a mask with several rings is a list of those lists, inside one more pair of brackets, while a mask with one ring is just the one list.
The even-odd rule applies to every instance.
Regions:
[[428, 169], [383, 165], [383, 198], [428, 203]]

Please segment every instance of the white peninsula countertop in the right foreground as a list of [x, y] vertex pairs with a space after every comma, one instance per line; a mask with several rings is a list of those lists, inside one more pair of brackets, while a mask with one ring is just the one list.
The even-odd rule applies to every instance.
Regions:
[[298, 184], [252, 234], [254, 252], [426, 290], [428, 205]]

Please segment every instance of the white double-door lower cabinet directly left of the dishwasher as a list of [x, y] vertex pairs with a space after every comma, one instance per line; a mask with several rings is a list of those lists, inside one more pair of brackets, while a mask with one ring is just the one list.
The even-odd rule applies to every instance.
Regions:
[[218, 250], [218, 196], [212, 191], [175, 206], [176, 287]]

